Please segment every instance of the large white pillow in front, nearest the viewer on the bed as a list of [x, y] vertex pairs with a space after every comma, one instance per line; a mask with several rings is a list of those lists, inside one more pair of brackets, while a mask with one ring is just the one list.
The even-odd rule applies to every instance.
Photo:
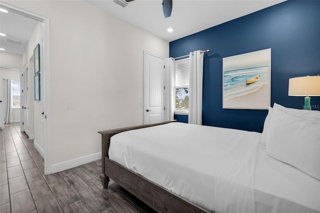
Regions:
[[266, 153], [320, 180], [320, 123], [273, 107]]

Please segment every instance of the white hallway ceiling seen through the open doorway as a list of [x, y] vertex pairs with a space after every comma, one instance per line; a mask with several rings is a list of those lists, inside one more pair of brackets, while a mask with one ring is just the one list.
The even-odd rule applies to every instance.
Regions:
[[[0, 36], [0, 48], [5, 52], [23, 54], [37, 22], [13, 11], [0, 12], [0, 32], [6, 34]], [[5, 38], [22, 41], [22, 45], [6, 42]]]

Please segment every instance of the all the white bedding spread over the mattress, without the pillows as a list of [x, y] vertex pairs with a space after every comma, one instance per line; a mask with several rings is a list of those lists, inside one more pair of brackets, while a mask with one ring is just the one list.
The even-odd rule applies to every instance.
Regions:
[[112, 136], [109, 158], [210, 211], [320, 212], [320, 181], [267, 156], [260, 136], [173, 122]]

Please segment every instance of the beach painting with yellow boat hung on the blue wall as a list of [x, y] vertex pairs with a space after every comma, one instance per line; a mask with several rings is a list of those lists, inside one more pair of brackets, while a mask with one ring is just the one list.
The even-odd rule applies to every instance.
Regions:
[[268, 109], [271, 49], [222, 58], [222, 108]]

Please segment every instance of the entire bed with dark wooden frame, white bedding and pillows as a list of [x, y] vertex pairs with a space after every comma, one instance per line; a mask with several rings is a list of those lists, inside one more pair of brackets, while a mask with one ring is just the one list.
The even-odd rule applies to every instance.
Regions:
[[[275, 112], [273, 124], [282, 118]], [[289, 118], [285, 122], [294, 123]], [[309, 168], [279, 160], [272, 143], [263, 144], [276, 140], [278, 129], [265, 135], [168, 121], [99, 131], [101, 181], [107, 187], [111, 178], [158, 212], [320, 212], [318, 171], [310, 175]]]

